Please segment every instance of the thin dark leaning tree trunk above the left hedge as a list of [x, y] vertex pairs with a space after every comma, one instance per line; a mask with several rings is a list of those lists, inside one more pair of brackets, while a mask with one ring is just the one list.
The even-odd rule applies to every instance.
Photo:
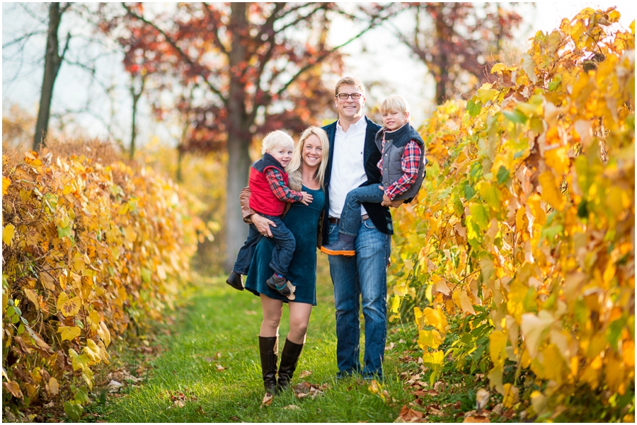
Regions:
[[[33, 137], [33, 150], [38, 151], [44, 144], [49, 129], [49, 117], [51, 113], [51, 99], [53, 98], [53, 85], [57, 77], [57, 71], [62, 64], [62, 56], [59, 55], [59, 39], [57, 30], [62, 19], [59, 3], [51, 3], [49, 6], [49, 35], [47, 37], [47, 50], [45, 52], [45, 70], [42, 78], [42, 93], [40, 94], [40, 110], [38, 121], [35, 123], [35, 136]], [[68, 40], [67, 40], [68, 46]]]

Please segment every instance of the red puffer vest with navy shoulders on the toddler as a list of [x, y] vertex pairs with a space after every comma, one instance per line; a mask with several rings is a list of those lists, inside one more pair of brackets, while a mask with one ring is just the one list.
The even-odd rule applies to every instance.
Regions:
[[280, 201], [270, 190], [268, 180], [265, 179], [265, 171], [269, 168], [276, 168], [283, 175], [283, 181], [287, 186], [287, 173], [282, 168], [279, 161], [272, 158], [269, 153], [265, 153], [263, 158], [252, 164], [250, 168], [250, 208], [258, 213], [267, 216], [280, 216], [285, 209], [285, 202]]

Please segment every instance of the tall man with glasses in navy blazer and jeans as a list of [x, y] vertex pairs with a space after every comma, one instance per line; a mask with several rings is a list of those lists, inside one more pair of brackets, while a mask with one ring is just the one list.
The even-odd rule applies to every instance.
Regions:
[[[361, 185], [381, 184], [377, 163], [381, 153], [374, 137], [381, 128], [365, 117], [365, 87], [356, 78], [336, 83], [335, 107], [338, 121], [323, 127], [330, 140], [325, 176], [326, 214], [323, 245], [338, 239], [338, 222], [348, 192]], [[403, 201], [394, 201], [397, 207]], [[355, 257], [330, 256], [330, 274], [336, 307], [337, 378], [361, 373], [366, 380], [383, 377], [387, 334], [387, 264], [391, 250], [389, 208], [363, 203], [361, 223], [355, 241]], [[365, 318], [365, 355], [360, 366], [360, 315]]]

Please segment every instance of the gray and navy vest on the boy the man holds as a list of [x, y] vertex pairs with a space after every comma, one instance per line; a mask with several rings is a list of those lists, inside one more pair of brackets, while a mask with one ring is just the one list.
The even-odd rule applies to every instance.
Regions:
[[[385, 149], [383, 151], [383, 133], [385, 134]], [[420, 156], [418, 161], [418, 176], [411, 187], [396, 196], [394, 199], [408, 199], [407, 202], [411, 202], [411, 199], [418, 194], [420, 185], [423, 184], [425, 178], [425, 142], [420, 134], [415, 131], [411, 124], [407, 123], [403, 127], [397, 129], [394, 132], [387, 132], [386, 129], [380, 129], [376, 134], [376, 146], [378, 150], [383, 154], [383, 185], [387, 187], [396, 182], [403, 170], [401, 168], [401, 158], [403, 157], [403, 151], [407, 146], [408, 141], [415, 140], [420, 144], [420, 149], [423, 151], [423, 155]]]

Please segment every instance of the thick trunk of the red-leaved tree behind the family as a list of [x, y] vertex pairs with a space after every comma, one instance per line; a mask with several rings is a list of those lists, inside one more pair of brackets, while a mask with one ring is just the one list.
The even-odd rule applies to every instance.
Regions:
[[239, 248], [248, 235], [248, 226], [241, 218], [239, 194], [248, 185], [250, 168], [251, 134], [248, 131], [248, 114], [243, 98], [245, 88], [239, 81], [239, 64], [246, 59], [246, 47], [243, 45], [243, 33], [248, 28], [245, 3], [231, 3], [230, 27], [233, 34], [229, 53], [230, 87], [228, 98], [228, 177], [226, 182], [226, 261], [224, 269], [230, 272]]

